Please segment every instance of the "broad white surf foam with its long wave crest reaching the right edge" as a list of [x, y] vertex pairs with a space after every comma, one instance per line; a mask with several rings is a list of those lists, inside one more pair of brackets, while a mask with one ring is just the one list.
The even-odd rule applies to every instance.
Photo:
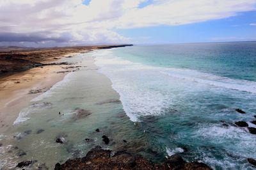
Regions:
[[189, 69], [147, 66], [116, 57], [111, 50], [98, 51], [94, 56], [95, 64], [100, 67], [99, 72], [112, 81], [113, 89], [120, 94], [123, 108], [133, 122], [140, 121], [140, 116], [161, 115], [172, 104], [172, 94], [164, 92], [163, 89], [152, 89], [157, 83], [164, 84], [167, 87], [165, 90], [170, 88], [170, 83], [176, 83], [175, 87], [182, 86], [187, 90], [189, 88], [186, 87], [193, 83], [194, 90], [196, 87], [218, 87], [223, 91], [229, 89], [256, 93], [254, 81], [234, 80]]

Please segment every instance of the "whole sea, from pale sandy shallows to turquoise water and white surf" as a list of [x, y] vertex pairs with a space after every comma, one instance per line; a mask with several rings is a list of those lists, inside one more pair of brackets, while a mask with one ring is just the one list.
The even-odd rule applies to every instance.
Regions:
[[[97, 67], [88, 69], [83, 63], [91, 57]], [[255, 134], [234, 123], [256, 127], [255, 42], [136, 45], [63, 61], [84, 67], [33, 99], [0, 136], [10, 144], [1, 147], [2, 167], [32, 157], [51, 168], [100, 145], [154, 162], [179, 153], [213, 169], [253, 169], [246, 159], [256, 158]], [[79, 109], [91, 115], [76, 117]], [[58, 136], [68, 143], [55, 143]], [[20, 150], [26, 152], [22, 159]]]

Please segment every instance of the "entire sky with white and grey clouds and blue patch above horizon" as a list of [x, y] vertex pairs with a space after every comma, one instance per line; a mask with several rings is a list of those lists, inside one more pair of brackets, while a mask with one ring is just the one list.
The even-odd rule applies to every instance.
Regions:
[[256, 41], [256, 0], [0, 0], [0, 46]]

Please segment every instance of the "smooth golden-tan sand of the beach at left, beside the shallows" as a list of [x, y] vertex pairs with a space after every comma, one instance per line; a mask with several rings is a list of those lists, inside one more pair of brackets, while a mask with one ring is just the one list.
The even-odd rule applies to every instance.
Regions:
[[[50, 89], [67, 74], [57, 73], [58, 71], [63, 71], [61, 66], [36, 67], [1, 79], [0, 133], [6, 131], [13, 124], [20, 110], [28, 106], [31, 99]], [[29, 94], [30, 90], [41, 92]]]

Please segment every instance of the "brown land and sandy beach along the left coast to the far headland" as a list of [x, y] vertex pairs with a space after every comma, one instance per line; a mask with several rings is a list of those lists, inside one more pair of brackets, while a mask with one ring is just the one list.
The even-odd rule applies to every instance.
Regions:
[[[35, 57], [35, 54], [40, 53], [40, 57], [36, 59], [36, 63], [39, 65], [30, 66], [26, 68], [26, 70], [19, 69], [15, 72], [8, 71], [8, 73], [4, 74], [2, 71], [2, 74], [0, 74], [0, 134], [7, 131], [9, 127], [12, 127], [13, 122], [19, 117], [22, 108], [28, 106], [33, 98], [40, 96], [40, 94], [51, 89], [52, 85], [63, 80], [65, 75], [69, 72], [77, 71], [76, 66], [78, 65], [76, 63], [61, 63], [61, 59], [65, 57], [73, 57], [79, 53], [88, 53], [92, 50], [123, 46], [126, 45], [70, 47], [72, 50], [67, 48], [67, 52], [64, 51], [61, 53], [58, 53], [58, 50], [63, 50], [65, 48], [50, 48], [54, 49], [54, 52], [57, 52], [56, 55], [52, 51], [49, 53], [49, 48], [0, 52], [0, 63], [4, 54], [19, 56], [20, 53], [31, 52], [30, 55]], [[26, 55], [29, 57], [29, 54]], [[45, 55], [49, 56], [45, 57]], [[27, 62], [31, 64], [35, 63], [35, 60], [27, 60]], [[14, 64], [17, 63], [14, 62]]]

